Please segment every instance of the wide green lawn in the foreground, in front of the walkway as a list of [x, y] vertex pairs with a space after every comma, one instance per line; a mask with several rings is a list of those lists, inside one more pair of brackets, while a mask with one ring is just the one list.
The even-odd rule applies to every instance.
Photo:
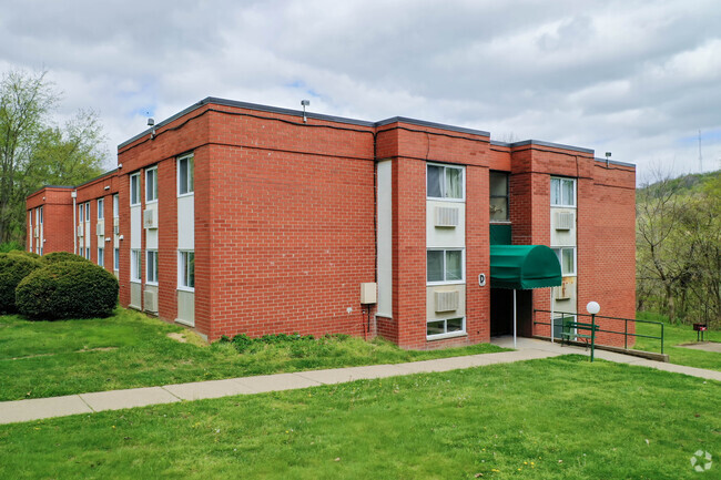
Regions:
[[719, 478], [719, 396], [567, 356], [0, 426], [0, 478]]

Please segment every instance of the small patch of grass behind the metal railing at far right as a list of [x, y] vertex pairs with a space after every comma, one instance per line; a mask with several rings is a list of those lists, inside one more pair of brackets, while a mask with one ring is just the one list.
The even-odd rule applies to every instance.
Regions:
[[[668, 321], [668, 318], [651, 312], [639, 312], [637, 318], [641, 320], [663, 321], [664, 348], [663, 353], [669, 354], [671, 364], [686, 365], [688, 367], [705, 368], [709, 370], [721, 371], [721, 355], [713, 351], [694, 350], [691, 348], [678, 347], [680, 344], [691, 344], [695, 341], [697, 333], [691, 325], [674, 325]], [[658, 325], [636, 324], [637, 333], [642, 335], [659, 336], [660, 328]], [[713, 330], [707, 333], [713, 340], [721, 339], [721, 331]], [[649, 338], [639, 338], [636, 347], [639, 350], [661, 351], [660, 340]]]

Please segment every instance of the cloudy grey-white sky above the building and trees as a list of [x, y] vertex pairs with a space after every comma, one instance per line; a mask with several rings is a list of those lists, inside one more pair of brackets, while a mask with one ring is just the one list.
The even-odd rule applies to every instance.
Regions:
[[108, 168], [149, 116], [206, 96], [611, 152], [639, 184], [721, 168], [719, 0], [0, 0], [0, 72], [45, 70], [58, 122], [95, 111]]

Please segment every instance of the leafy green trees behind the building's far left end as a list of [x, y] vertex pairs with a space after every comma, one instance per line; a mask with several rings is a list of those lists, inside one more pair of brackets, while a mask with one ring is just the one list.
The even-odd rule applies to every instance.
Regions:
[[0, 243], [24, 241], [28, 194], [102, 172], [104, 137], [98, 115], [79, 111], [59, 126], [52, 122], [59, 101], [45, 72], [11, 71], [0, 80]]

